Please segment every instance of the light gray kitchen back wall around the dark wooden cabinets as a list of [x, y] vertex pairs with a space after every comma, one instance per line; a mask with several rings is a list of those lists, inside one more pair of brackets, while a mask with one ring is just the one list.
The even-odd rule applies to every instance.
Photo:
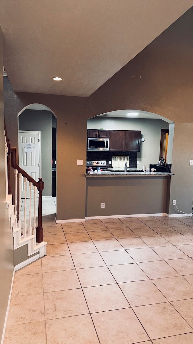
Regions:
[[93, 117], [87, 121], [87, 129], [109, 129], [109, 130], [140, 130], [141, 137], [145, 141], [141, 142], [140, 152], [137, 153], [139, 169], [143, 165], [157, 164], [159, 161], [161, 129], [168, 129], [169, 123], [161, 119], [143, 118], [104, 118]]

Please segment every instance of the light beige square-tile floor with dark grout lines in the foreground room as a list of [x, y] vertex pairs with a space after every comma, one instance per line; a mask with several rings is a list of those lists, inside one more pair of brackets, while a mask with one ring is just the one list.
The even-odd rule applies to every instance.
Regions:
[[4, 344], [193, 343], [192, 217], [52, 216], [47, 256], [15, 273]]

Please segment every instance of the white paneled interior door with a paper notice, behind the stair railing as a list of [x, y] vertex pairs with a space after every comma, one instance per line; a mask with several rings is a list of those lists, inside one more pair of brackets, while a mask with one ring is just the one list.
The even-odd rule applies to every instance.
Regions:
[[[19, 131], [19, 166], [36, 182], [41, 176], [41, 132]], [[24, 198], [24, 180], [22, 177], [21, 198]], [[27, 182], [26, 197], [30, 197], [29, 183]], [[34, 188], [32, 187], [32, 197]], [[38, 197], [38, 192], [36, 192]]]

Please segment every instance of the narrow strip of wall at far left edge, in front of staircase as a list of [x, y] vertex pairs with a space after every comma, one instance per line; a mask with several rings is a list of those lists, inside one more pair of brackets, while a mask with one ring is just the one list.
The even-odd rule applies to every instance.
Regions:
[[[1, 29], [0, 29], [1, 30]], [[3, 51], [2, 51], [2, 31], [0, 37], [0, 338], [7, 311], [8, 298], [13, 276], [13, 234], [8, 222], [8, 209], [6, 209], [5, 192], [5, 150], [4, 150], [4, 113], [3, 113]]]

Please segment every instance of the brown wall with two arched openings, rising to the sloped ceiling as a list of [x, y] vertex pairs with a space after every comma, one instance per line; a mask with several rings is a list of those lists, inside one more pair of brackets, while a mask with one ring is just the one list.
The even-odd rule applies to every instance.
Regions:
[[[5, 82], [5, 119], [12, 146], [18, 147], [17, 114], [24, 106], [43, 104], [57, 116], [58, 220], [85, 216], [88, 118], [106, 111], [136, 109], [153, 112], [177, 123], [193, 122], [192, 14], [193, 9], [190, 9], [89, 98], [15, 94]], [[177, 131], [174, 152], [179, 148], [178, 135]], [[183, 140], [190, 148], [190, 136], [184, 133]], [[83, 159], [83, 166], [76, 165], [77, 159]], [[182, 167], [175, 163], [173, 172], [178, 174], [180, 169]], [[176, 190], [178, 186], [173, 181], [171, 190]], [[179, 183], [184, 183], [181, 173]], [[180, 198], [186, 211], [190, 209], [192, 190], [191, 184], [188, 190], [183, 187], [181, 190]]]

